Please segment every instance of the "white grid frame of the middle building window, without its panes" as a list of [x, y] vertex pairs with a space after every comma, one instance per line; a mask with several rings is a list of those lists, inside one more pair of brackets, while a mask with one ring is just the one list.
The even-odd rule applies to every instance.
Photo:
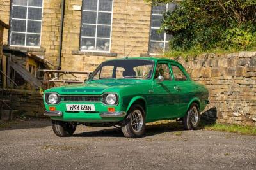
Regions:
[[[83, 2], [86, 1], [86, 0], [83, 0]], [[83, 4], [84, 6], [85, 4]], [[112, 40], [112, 25], [113, 25], [113, 8], [114, 8], [114, 0], [112, 0], [112, 9], [111, 11], [99, 11], [99, 0], [97, 0], [97, 11], [93, 11], [93, 10], [82, 10], [82, 15], [81, 15], [81, 31], [82, 31], [82, 25], [95, 25], [96, 28], [95, 28], [95, 36], [94, 37], [90, 37], [90, 36], [82, 36], [81, 35], [81, 32], [80, 32], [80, 42], [79, 42], [79, 50], [81, 52], [102, 52], [102, 53], [110, 53], [111, 52], [111, 40]], [[96, 12], [96, 24], [87, 24], [87, 23], [83, 23], [83, 12], [84, 11], [88, 11], [88, 12]], [[98, 24], [98, 16], [99, 16], [99, 13], [102, 12], [102, 13], [111, 13], [111, 22], [110, 22], [110, 25], [109, 24]], [[97, 37], [97, 28], [98, 28], [98, 25], [100, 26], [110, 26], [110, 37], [109, 38], [101, 38], [101, 37]], [[94, 46], [95, 46], [95, 50], [82, 50], [81, 49], [81, 43], [82, 43], [82, 38], [94, 38], [95, 39], [95, 42], [94, 42]], [[104, 51], [104, 50], [96, 50], [97, 48], [97, 39], [109, 39], [109, 50], [108, 51]]]

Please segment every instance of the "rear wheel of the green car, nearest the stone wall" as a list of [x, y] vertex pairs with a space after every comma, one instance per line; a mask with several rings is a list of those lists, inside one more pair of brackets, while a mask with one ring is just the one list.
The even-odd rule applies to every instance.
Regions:
[[186, 113], [186, 116], [183, 117], [182, 123], [184, 129], [192, 130], [196, 129], [200, 122], [200, 114], [198, 105], [196, 103], [191, 104], [189, 110]]

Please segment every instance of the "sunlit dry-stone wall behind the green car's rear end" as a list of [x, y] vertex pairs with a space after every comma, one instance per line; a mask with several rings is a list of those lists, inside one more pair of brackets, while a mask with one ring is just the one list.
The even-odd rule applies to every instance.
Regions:
[[175, 59], [193, 80], [207, 86], [209, 101], [206, 118], [218, 122], [256, 125], [256, 52], [228, 55], [207, 54]]

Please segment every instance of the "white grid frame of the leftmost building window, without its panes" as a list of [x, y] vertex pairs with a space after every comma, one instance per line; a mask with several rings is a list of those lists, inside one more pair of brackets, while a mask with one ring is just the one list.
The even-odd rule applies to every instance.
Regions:
[[[12, 14], [10, 15], [11, 22], [12, 22], [12, 20], [13, 20], [13, 19], [14, 19], [14, 20], [26, 20], [26, 30], [25, 30], [25, 32], [10, 31], [10, 34], [9, 34], [9, 36], [10, 36], [10, 38], [9, 38], [9, 39], [10, 39], [10, 46], [17, 46], [17, 47], [29, 47], [29, 48], [41, 48], [44, 0], [42, 0], [42, 7], [40, 7], [40, 6], [29, 6], [29, 5], [28, 5], [28, 1], [29, 1], [29, 0], [27, 0], [27, 5], [26, 5], [26, 6], [25, 6], [25, 5], [19, 5], [19, 4], [12, 4], [12, 6], [11, 6], [11, 8], [12, 8], [13, 6], [26, 7], [26, 8], [27, 8], [27, 12], [26, 12], [26, 19], [13, 18], [13, 17], [12, 17]], [[13, 1], [12, 1], [12, 3], [13, 3]], [[42, 16], [41, 16], [41, 20], [31, 20], [31, 21], [41, 22], [41, 31], [40, 31], [40, 33], [27, 32], [28, 21], [30, 20], [30, 19], [28, 19], [28, 8], [29, 8], [29, 7], [31, 7], [31, 8], [42, 8]], [[13, 10], [13, 9], [12, 9], [12, 10]], [[11, 10], [11, 11], [12, 11], [12, 10]], [[25, 34], [25, 41], [24, 41], [24, 45], [12, 45], [12, 44], [11, 44], [11, 43], [12, 43], [12, 41], [11, 41], [12, 33]], [[39, 42], [39, 46], [28, 46], [28, 45], [26, 45], [26, 42], [27, 42], [27, 34], [40, 35], [40, 42]]]

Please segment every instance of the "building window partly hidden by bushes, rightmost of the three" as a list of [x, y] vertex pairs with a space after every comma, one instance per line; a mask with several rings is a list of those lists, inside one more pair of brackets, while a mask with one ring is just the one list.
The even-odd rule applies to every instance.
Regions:
[[175, 3], [163, 4], [152, 7], [151, 24], [150, 24], [150, 43], [149, 53], [163, 53], [169, 48], [170, 35], [166, 33], [158, 33], [161, 27], [161, 20], [163, 13], [166, 11], [173, 11], [176, 8]]

